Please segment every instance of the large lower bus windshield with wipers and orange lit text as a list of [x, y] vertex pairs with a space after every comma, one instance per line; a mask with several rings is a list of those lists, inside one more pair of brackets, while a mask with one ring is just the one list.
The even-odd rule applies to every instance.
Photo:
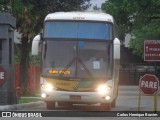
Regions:
[[70, 78], [111, 76], [110, 42], [48, 39], [43, 48], [43, 75]]

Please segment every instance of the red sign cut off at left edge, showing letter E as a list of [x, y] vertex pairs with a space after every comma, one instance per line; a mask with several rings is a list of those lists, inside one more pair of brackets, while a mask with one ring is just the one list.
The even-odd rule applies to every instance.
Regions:
[[5, 83], [7, 73], [3, 67], [0, 66], [0, 87]]

